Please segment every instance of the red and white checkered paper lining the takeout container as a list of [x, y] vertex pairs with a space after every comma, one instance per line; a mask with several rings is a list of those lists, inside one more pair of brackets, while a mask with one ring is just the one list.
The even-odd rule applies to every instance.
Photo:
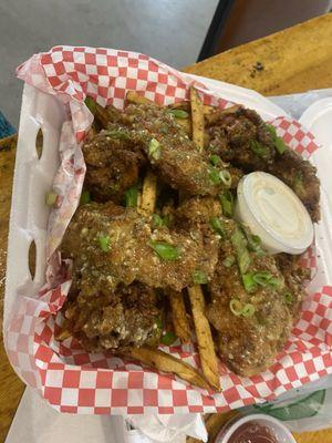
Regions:
[[[62, 184], [62, 189], [70, 189], [70, 198], [63, 198], [51, 216], [48, 284], [34, 299], [18, 298], [6, 334], [9, 359], [27, 384], [37, 388], [62, 412], [173, 414], [226, 411], [258, 403], [332, 373], [332, 287], [324, 282], [319, 291], [308, 295], [300, 320], [269, 370], [242, 378], [220, 362], [221, 393], [194, 388], [175, 375], [142, 368], [107, 352], [87, 353], [73, 339], [56, 342], [54, 331], [61, 320], [56, 312], [71, 280], [70, 264], [61, 264], [53, 250], [75, 209], [84, 179], [85, 165], [80, 147], [73, 147], [73, 138], [76, 135], [82, 141], [92, 121], [83, 103], [86, 94], [102, 105], [112, 103], [123, 109], [128, 90], [142, 92], [159, 104], [169, 104], [188, 99], [188, 86], [194, 84], [206, 104], [227, 107], [230, 103], [146, 55], [110, 49], [56, 47], [31, 58], [18, 69], [18, 75], [58, 95], [66, 104], [71, 119], [64, 124], [60, 146], [62, 166], [55, 177], [58, 187]], [[288, 145], [304, 157], [309, 158], [318, 148], [313, 136], [298, 122], [278, 117], [271, 123]], [[71, 174], [63, 173], [68, 169]], [[304, 265], [315, 268], [313, 249]], [[195, 344], [162, 349], [199, 368]]]

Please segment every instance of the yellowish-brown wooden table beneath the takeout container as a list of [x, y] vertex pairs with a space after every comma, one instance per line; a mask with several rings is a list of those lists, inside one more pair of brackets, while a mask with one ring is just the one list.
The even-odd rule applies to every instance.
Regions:
[[[260, 62], [261, 71], [255, 66]], [[332, 14], [319, 17], [273, 35], [224, 52], [184, 71], [280, 95], [332, 86]], [[0, 151], [0, 299], [3, 298], [13, 150]], [[1, 328], [2, 330], [2, 328]], [[2, 343], [2, 341], [1, 341]], [[23, 384], [0, 346], [0, 441], [4, 441]], [[304, 433], [298, 442], [332, 441], [329, 431]], [[331, 440], [329, 440], [331, 439]]]

